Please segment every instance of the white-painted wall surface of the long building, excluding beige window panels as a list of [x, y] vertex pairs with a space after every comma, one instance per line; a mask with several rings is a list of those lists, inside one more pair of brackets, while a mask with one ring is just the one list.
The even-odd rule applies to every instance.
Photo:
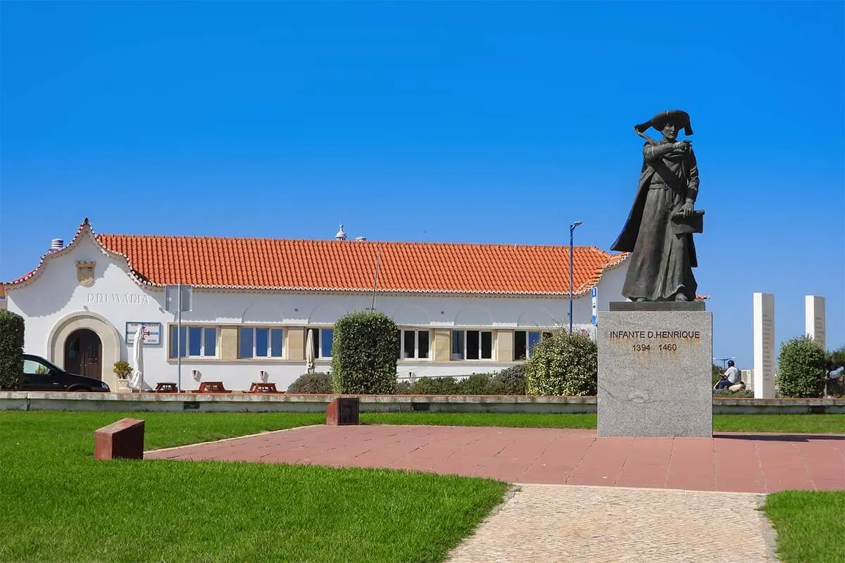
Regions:
[[[90, 287], [79, 284], [77, 261], [95, 261], [95, 281]], [[606, 273], [599, 286], [599, 309], [608, 310], [611, 300], [621, 296], [626, 265]], [[349, 311], [370, 306], [372, 295], [319, 294], [281, 291], [210, 291], [194, 290], [194, 311], [183, 313], [183, 323], [267, 324], [275, 326], [330, 327]], [[465, 297], [450, 295], [377, 295], [376, 308], [393, 317], [401, 327], [430, 328], [553, 328], [568, 326], [569, 300], [502, 297]], [[576, 324], [589, 324], [590, 295], [575, 298]], [[122, 257], [107, 255], [87, 235], [81, 235], [73, 246], [48, 257], [40, 275], [27, 284], [8, 290], [8, 309], [25, 317], [25, 351], [41, 355], [57, 365], [63, 355], [52, 357], [49, 338], [57, 322], [79, 311], [91, 311], [104, 317], [117, 329], [121, 338], [120, 357], [131, 354], [125, 341], [126, 322], [161, 322], [161, 344], [144, 350], [144, 379], [155, 387], [156, 382], [176, 381], [177, 365], [167, 353], [167, 324], [175, 322], [172, 313], [164, 310], [164, 291], [139, 286], [128, 273]], [[105, 341], [104, 341], [105, 342]], [[60, 343], [59, 349], [63, 349]], [[399, 376], [461, 376], [499, 371], [512, 362], [467, 360], [433, 362], [432, 360], [400, 360]], [[328, 371], [330, 360], [317, 360], [317, 371]], [[304, 361], [293, 360], [196, 360], [182, 361], [182, 387], [196, 388], [192, 377], [199, 372], [202, 381], [222, 381], [227, 388], [248, 388], [259, 381], [259, 371], [269, 374], [269, 381], [285, 389], [305, 371]], [[103, 365], [103, 379], [112, 388], [117, 386], [112, 365]]]

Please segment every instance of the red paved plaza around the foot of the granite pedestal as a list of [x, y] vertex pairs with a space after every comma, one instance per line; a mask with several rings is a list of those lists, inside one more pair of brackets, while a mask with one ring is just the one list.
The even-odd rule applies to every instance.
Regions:
[[810, 434], [608, 438], [548, 428], [306, 426], [144, 457], [412, 469], [549, 485], [845, 489], [845, 436]]

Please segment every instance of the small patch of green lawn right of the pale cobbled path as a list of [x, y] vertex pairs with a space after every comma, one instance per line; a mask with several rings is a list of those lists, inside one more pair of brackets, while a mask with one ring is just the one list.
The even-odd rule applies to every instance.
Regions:
[[785, 563], [845, 561], [845, 491], [787, 490], [766, 497]]

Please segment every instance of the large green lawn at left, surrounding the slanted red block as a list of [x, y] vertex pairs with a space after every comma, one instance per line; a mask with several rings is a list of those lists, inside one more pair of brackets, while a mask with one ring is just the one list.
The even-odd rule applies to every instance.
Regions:
[[507, 485], [379, 469], [93, 457], [322, 424], [323, 414], [0, 412], [0, 561], [440, 561]]

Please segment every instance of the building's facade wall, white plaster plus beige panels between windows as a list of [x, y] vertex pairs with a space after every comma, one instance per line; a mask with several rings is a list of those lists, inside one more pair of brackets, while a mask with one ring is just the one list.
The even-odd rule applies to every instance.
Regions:
[[[94, 271], [89, 283], [78, 264], [90, 263], [94, 263]], [[623, 264], [602, 277], [599, 309], [606, 310], [610, 300], [623, 299], [624, 270]], [[368, 293], [195, 289], [193, 310], [183, 313], [182, 323], [186, 335], [188, 328], [194, 328], [192, 335], [202, 335], [203, 351], [204, 338], [209, 337], [214, 354], [183, 357], [181, 387], [191, 389], [197, 388], [199, 381], [222, 381], [227, 388], [244, 389], [250, 382], [260, 381], [261, 371], [265, 371], [268, 381], [285, 389], [306, 371], [304, 346], [308, 328], [330, 329], [339, 317], [368, 308], [372, 300], [373, 295]], [[499, 371], [515, 364], [515, 331], [536, 333], [569, 324], [569, 300], [565, 296], [541, 299], [377, 294], [375, 308], [392, 317], [400, 328], [428, 333], [428, 358], [399, 360], [400, 377]], [[61, 366], [67, 327], [95, 330], [103, 346], [102, 379], [112, 388], [117, 387], [113, 361], [131, 363], [127, 323], [161, 323], [160, 344], [144, 346], [144, 382], [155, 387], [157, 382], [177, 381], [177, 360], [171, 354], [176, 348], [175, 340], [174, 344], [171, 342], [176, 318], [165, 310], [164, 290], [137, 283], [126, 260], [104, 252], [90, 236], [80, 236], [73, 246], [48, 257], [34, 279], [9, 289], [8, 309], [25, 317], [25, 351]], [[573, 309], [575, 324], [590, 329], [590, 295], [575, 298]], [[273, 349], [275, 344], [268, 344], [267, 348], [268, 354], [281, 348], [281, 357], [241, 357], [242, 328], [281, 329], [281, 333], [274, 332], [270, 337], [276, 338], [279, 345]], [[459, 330], [491, 333], [490, 358], [453, 359], [452, 333]], [[266, 334], [259, 330], [253, 338], [258, 342], [258, 335]], [[465, 336], [465, 347], [476, 338], [475, 333]], [[416, 338], [418, 342], [423, 337]], [[329, 371], [330, 359], [317, 358], [315, 368]]]

